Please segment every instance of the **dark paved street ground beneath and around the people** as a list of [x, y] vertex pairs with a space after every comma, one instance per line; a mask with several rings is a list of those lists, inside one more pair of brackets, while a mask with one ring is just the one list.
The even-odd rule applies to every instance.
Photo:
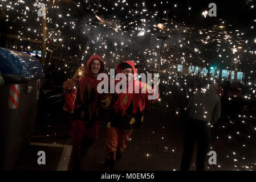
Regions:
[[[116, 164], [116, 171], [123, 170], [179, 170], [182, 150], [185, 121], [174, 111], [160, 112], [155, 104], [151, 111], [145, 115], [142, 129], [135, 129], [131, 140], [122, 158]], [[63, 119], [60, 117], [60, 119]], [[249, 123], [250, 120], [247, 122]], [[62, 122], [62, 121], [58, 121]], [[221, 122], [221, 121], [220, 121]], [[206, 170], [255, 170], [255, 135], [250, 138], [246, 130], [235, 135], [235, 131], [219, 126], [212, 128], [212, 140], [209, 150], [217, 152], [217, 164], [209, 165], [207, 157]], [[106, 123], [101, 122], [99, 127], [99, 138], [82, 159], [82, 170], [103, 171], [104, 170], [104, 147]], [[255, 123], [254, 123], [255, 125]], [[248, 124], [249, 126], [249, 124]], [[245, 127], [246, 128], [246, 127]], [[251, 129], [253, 130], [253, 128]], [[65, 148], [71, 148], [72, 139], [66, 137], [66, 125], [55, 125], [50, 127], [38, 126], [35, 129], [32, 145], [30, 147], [29, 159], [18, 160], [16, 170], [57, 170], [61, 167], [62, 156]], [[48, 136], [47, 136], [48, 135]], [[229, 138], [231, 136], [231, 138]], [[48, 143], [50, 146], [35, 146]], [[245, 146], [243, 146], [245, 144]], [[63, 145], [63, 146], [62, 146]], [[54, 147], [62, 146], [62, 147]], [[46, 152], [46, 165], [39, 166], [36, 163], [39, 150]], [[191, 170], [196, 169], [196, 147], [192, 159]], [[66, 162], [61, 169], [72, 170], [71, 150], [66, 154]], [[68, 162], [67, 162], [68, 160]]]

